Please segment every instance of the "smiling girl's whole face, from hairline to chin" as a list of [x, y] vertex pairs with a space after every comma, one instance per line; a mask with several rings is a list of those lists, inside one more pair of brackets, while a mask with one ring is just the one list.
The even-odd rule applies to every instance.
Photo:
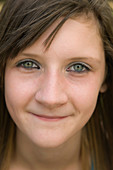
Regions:
[[69, 19], [50, 48], [44, 40], [7, 62], [5, 100], [17, 134], [40, 147], [76, 138], [105, 91], [105, 56], [94, 19]]

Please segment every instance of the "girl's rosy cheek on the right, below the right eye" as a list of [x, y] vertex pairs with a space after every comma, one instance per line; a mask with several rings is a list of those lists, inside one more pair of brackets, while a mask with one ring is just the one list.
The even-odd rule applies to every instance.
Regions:
[[99, 94], [99, 83], [95, 81], [86, 81], [71, 86], [69, 90], [70, 100], [78, 114], [91, 116], [97, 103]]

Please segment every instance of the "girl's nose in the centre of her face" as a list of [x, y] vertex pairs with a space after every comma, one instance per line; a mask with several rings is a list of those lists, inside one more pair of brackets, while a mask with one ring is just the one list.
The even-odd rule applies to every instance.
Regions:
[[41, 105], [53, 109], [67, 103], [68, 97], [63, 87], [63, 81], [57, 74], [46, 74], [35, 94], [35, 100]]

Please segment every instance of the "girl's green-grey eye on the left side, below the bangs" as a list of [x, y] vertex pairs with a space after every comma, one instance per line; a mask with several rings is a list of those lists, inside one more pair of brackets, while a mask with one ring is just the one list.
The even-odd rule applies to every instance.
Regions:
[[25, 59], [22, 61], [19, 61], [16, 64], [17, 67], [23, 67], [25, 69], [40, 69], [40, 65], [37, 61], [31, 60], [31, 59]]

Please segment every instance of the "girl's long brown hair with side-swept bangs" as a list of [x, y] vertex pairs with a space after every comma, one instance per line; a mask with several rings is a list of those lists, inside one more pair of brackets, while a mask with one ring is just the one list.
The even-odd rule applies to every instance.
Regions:
[[[0, 169], [8, 170], [16, 126], [4, 99], [4, 72], [8, 58], [32, 45], [58, 18], [62, 21], [45, 41], [49, 48], [56, 33], [70, 17], [92, 13], [99, 23], [107, 67], [107, 91], [83, 129], [83, 169], [113, 169], [113, 14], [107, 0], [7, 0], [0, 13]], [[90, 154], [90, 159], [88, 157]]]

